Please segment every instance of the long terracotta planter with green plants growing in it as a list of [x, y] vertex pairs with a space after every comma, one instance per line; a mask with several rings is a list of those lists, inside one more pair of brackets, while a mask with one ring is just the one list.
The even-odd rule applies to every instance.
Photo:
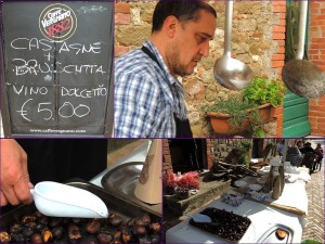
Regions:
[[274, 107], [282, 105], [284, 92], [281, 81], [256, 77], [238, 97], [216, 101], [204, 111], [218, 134], [250, 132], [253, 137], [264, 137], [262, 125], [273, 118]]

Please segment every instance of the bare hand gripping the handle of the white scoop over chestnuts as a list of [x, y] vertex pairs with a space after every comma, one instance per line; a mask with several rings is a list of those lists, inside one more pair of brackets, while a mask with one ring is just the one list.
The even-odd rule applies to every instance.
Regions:
[[0, 151], [1, 206], [31, 203], [27, 154], [14, 139], [0, 139]]

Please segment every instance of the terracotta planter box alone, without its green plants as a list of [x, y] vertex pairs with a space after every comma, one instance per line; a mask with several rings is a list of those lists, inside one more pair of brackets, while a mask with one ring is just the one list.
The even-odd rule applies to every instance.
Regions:
[[[252, 110], [246, 110], [245, 113], [251, 111]], [[259, 106], [259, 113], [263, 124], [269, 123], [273, 118], [274, 112], [275, 108], [269, 103]], [[210, 118], [213, 131], [220, 136], [232, 136], [251, 131], [249, 120], [244, 120], [240, 128], [234, 128], [230, 124], [230, 118], [232, 116], [229, 114], [208, 112], [207, 115]]]

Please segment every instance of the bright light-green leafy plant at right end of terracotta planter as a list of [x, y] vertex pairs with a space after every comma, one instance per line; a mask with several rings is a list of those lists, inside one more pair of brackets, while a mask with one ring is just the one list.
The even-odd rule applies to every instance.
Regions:
[[257, 105], [270, 103], [274, 107], [282, 105], [284, 94], [285, 87], [281, 80], [269, 80], [262, 77], [255, 77], [243, 90], [245, 101]]

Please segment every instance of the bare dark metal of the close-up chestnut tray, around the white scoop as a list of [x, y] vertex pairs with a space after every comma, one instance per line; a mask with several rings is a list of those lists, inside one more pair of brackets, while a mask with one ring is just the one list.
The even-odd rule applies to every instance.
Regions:
[[[118, 196], [110, 195], [104, 189], [99, 188], [88, 181], [81, 179], [73, 179], [67, 182], [67, 184], [80, 188], [87, 191], [92, 192], [103, 200], [108, 208], [108, 213], [116, 213], [122, 217], [123, 222], [127, 222], [129, 219], [135, 218], [142, 214], [148, 214], [152, 218], [152, 221], [161, 222], [161, 216], [156, 215], [156, 213], [151, 211], [151, 209], [143, 209], [141, 206], [127, 202]], [[20, 222], [22, 217], [28, 214], [36, 211], [35, 204], [30, 205], [21, 205], [6, 214], [0, 216], [0, 230], [8, 231], [8, 228], [15, 222]], [[165, 236], [161, 236], [165, 239]]]

